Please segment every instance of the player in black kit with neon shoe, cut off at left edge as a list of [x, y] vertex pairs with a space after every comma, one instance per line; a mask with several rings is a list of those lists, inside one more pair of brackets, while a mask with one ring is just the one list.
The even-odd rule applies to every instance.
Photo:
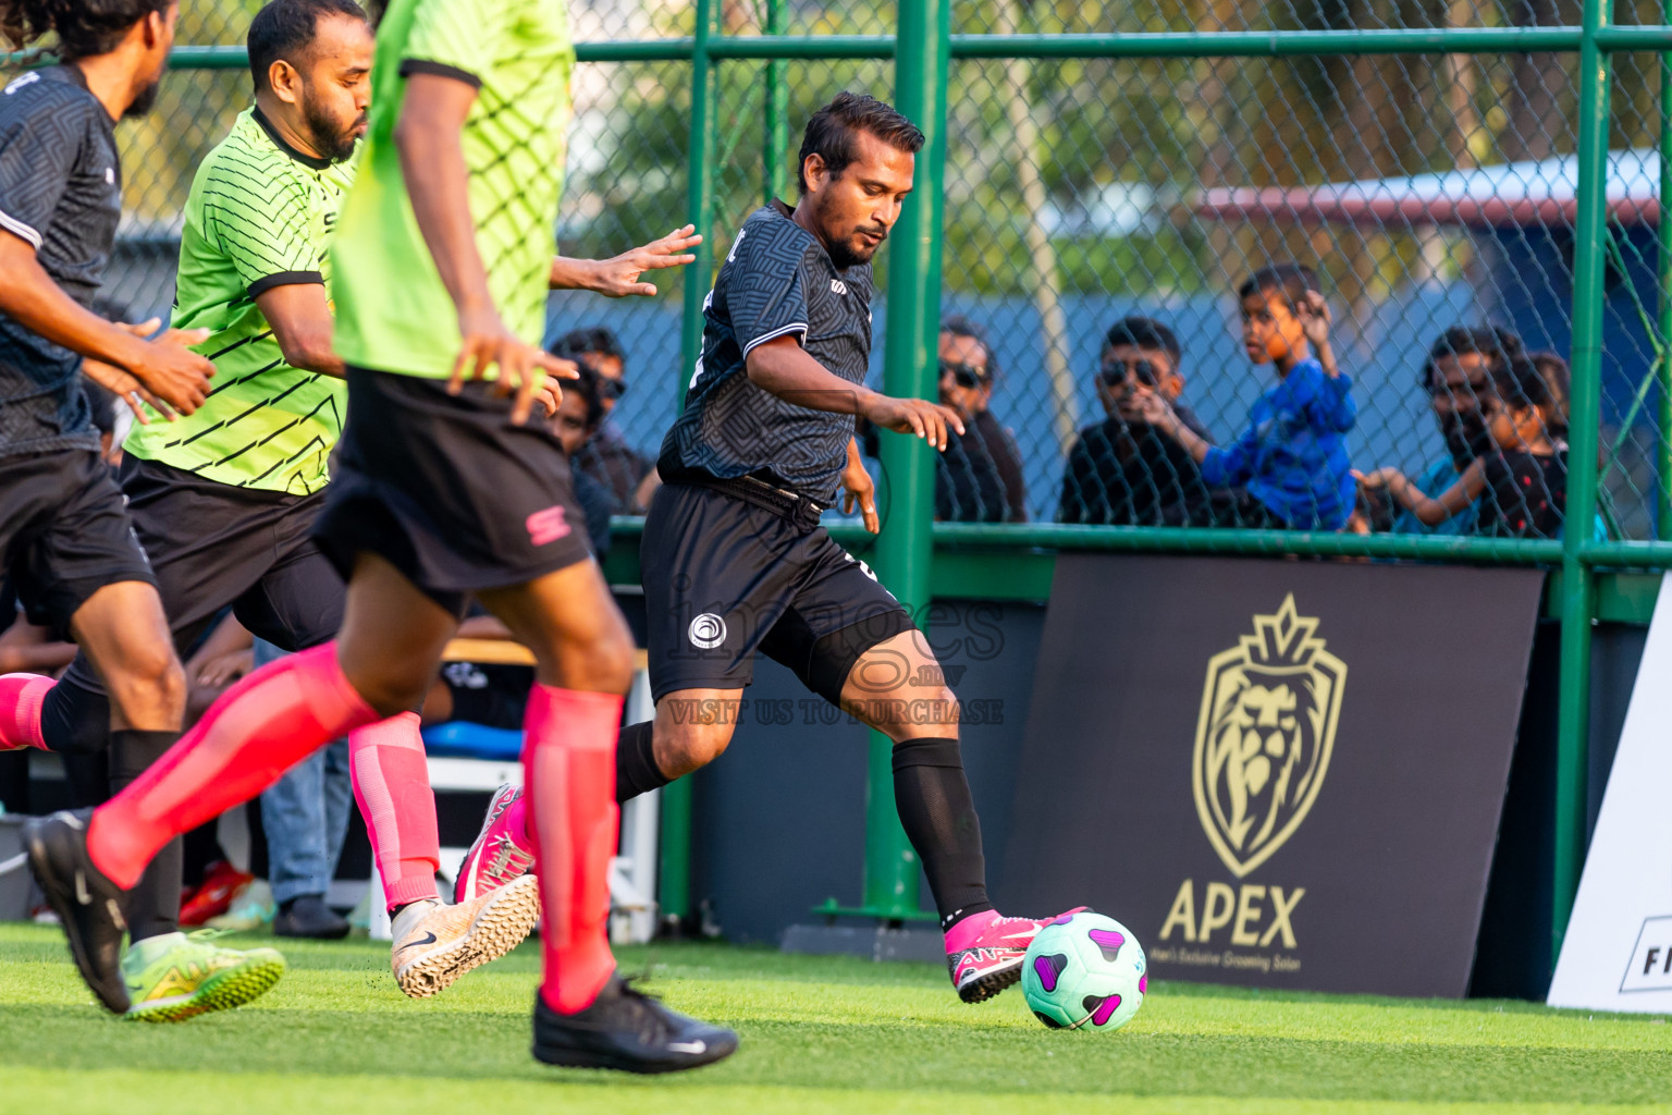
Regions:
[[[110, 791], [169, 749], [186, 705], [157, 577], [99, 455], [82, 388], [95, 381], [155, 423], [192, 415], [211, 391], [212, 364], [189, 351], [206, 331], [147, 341], [159, 323], [112, 324], [87, 309], [122, 209], [114, 122], [147, 112], [177, 17], [172, 0], [30, 0], [8, 5], [3, 27], [20, 50], [54, 33], [59, 64], [18, 74], [0, 97], [0, 568], [37, 622], [75, 637], [110, 700], [94, 710], [84, 747], [64, 746], [40, 726], [52, 680], [0, 677], [0, 751], [109, 751]], [[37, 864], [62, 851], [25, 846]], [[181, 848], [157, 851], [125, 904], [100, 909], [130, 929], [127, 955], [117, 960], [120, 934], [70, 938], [97, 950], [77, 961], [100, 971], [99, 1001], [127, 1018], [172, 1020], [273, 986], [284, 971], [273, 950], [239, 953], [179, 931]], [[45, 894], [74, 921], [92, 896], [74, 863], [62, 866]]]

